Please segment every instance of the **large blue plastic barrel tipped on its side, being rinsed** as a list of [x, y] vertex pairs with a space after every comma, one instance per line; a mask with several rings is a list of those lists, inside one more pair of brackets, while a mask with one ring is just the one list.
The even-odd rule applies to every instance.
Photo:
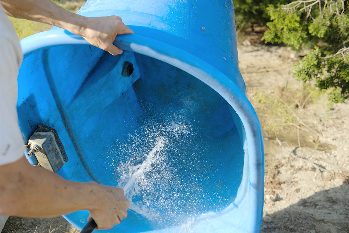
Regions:
[[[119, 56], [60, 28], [23, 39], [17, 109], [25, 140], [57, 130], [59, 175], [125, 189], [128, 217], [98, 232], [259, 232], [262, 134], [232, 2], [89, 0], [78, 14], [135, 34], [117, 36]], [[64, 217], [81, 229], [88, 211]]]

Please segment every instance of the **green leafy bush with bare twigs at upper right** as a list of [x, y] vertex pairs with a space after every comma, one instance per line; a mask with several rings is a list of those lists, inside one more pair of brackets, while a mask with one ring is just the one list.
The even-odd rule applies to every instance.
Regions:
[[265, 42], [284, 43], [296, 50], [313, 47], [295, 65], [295, 76], [314, 80], [334, 102], [349, 97], [349, 1], [305, 0], [267, 7], [271, 22]]

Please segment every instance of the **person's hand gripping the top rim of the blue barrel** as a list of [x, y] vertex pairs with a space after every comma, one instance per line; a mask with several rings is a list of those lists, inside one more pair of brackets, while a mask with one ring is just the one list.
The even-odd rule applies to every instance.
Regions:
[[88, 17], [84, 27], [80, 29], [81, 35], [90, 44], [101, 48], [112, 55], [122, 53], [122, 50], [113, 45], [115, 37], [122, 34], [134, 34], [119, 16]]

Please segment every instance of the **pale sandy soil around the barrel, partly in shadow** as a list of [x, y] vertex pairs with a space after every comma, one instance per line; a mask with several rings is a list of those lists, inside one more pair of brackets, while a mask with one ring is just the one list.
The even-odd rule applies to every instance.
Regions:
[[[283, 87], [299, 87], [292, 75], [296, 59], [295, 53], [286, 47], [240, 46], [240, 71], [249, 97], [274, 93]], [[314, 121], [321, 132], [317, 140], [326, 146], [297, 148], [298, 144], [287, 137], [264, 135], [263, 233], [349, 232], [349, 185], [345, 179], [349, 174], [349, 104], [335, 104], [327, 113], [326, 122], [317, 117], [320, 113], [314, 112]], [[305, 144], [303, 139], [301, 144]], [[79, 232], [62, 217], [10, 217], [2, 232], [35, 231]]]

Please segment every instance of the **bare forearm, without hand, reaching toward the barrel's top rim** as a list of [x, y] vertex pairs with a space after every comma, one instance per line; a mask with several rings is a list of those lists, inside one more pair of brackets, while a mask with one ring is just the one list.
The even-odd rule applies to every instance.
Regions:
[[88, 17], [74, 14], [50, 0], [0, 0], [7, 15], [64, 28], [81, 35]]

